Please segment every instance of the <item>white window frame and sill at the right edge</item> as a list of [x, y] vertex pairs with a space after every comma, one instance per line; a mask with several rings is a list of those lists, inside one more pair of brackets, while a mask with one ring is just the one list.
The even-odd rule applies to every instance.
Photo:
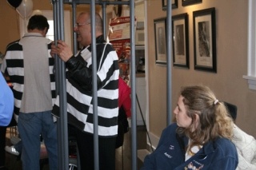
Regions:
[[247, 75], [249, 89], [256, 90], [256, 1], [248, 1], [248, 52]]

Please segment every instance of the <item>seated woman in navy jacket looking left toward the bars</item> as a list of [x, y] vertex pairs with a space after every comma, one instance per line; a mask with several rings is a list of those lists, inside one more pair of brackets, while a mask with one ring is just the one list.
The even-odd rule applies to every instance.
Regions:
[[225, 105], [206, 86], [182, 89], [174, 109], [177, 123], [162, 132], [142, 169], [234, 170], [238, 152], [231, 142], [234, 123]]

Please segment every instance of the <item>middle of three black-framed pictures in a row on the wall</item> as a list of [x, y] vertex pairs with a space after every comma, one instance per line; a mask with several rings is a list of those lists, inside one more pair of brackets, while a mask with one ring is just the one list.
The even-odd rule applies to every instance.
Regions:
[[174, 66], [190, 68], [187, 14], [172, 16]]

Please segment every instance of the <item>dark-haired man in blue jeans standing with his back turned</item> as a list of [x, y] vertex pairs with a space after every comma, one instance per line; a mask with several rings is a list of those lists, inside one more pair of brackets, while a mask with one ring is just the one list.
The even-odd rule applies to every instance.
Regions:
[[57, 127], [51, 114], [55, 98], [54, 58], [46, 38], [47, 18], [30, 18], [28, 33], [7, 46], [1, 71], [10, 77], [14, 113], [22, 139], [22, 169], [39, 170], [40, 134], [46, 144], [51, 170], [58, 169]]

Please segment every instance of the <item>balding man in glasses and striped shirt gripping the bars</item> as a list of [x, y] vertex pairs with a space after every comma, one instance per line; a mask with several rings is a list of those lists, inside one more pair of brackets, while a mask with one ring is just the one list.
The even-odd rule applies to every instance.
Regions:
[[[115, 168], [115, 140], [118, 134], [118, 55], [102, 35], [102, 18], [95, 14], [98, 95], [99, 168]], [[94, 170], [94, 120], [92, 92], [92, 47], [90, 13], [78, 15], [74, 31], [83, 46], [76, 55], [65, 42], [52, 45], [51, 54], [66, 63], [68, 122], [77, 136], [81, 169]], [[59, 117], [58, 97], [53, 109]]]

